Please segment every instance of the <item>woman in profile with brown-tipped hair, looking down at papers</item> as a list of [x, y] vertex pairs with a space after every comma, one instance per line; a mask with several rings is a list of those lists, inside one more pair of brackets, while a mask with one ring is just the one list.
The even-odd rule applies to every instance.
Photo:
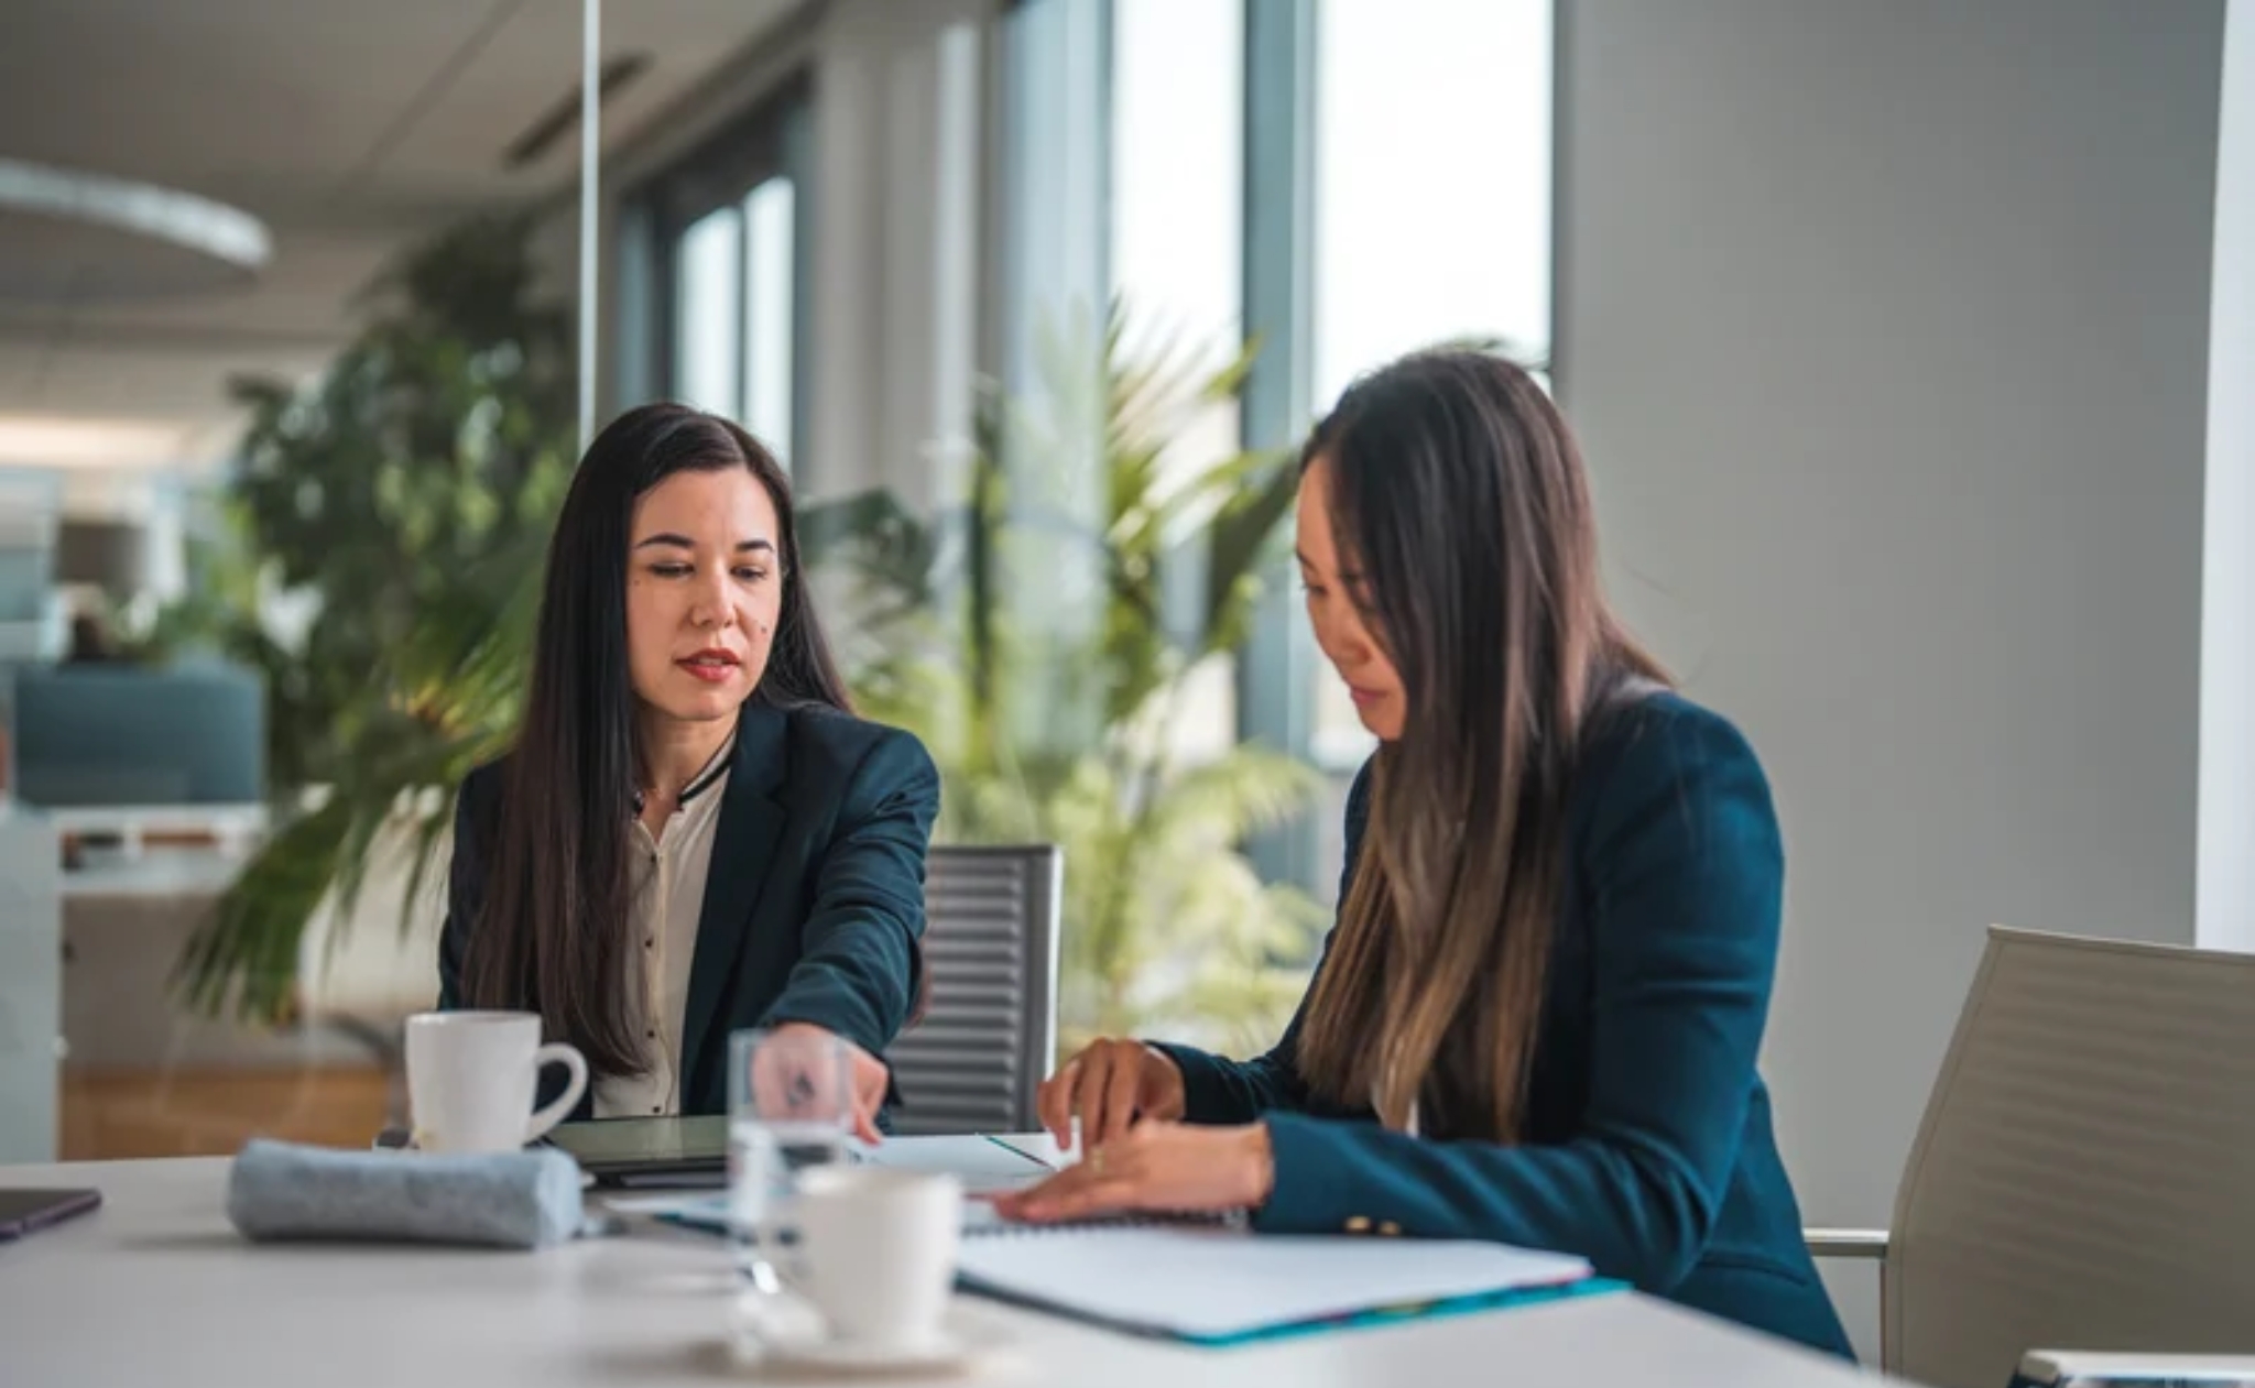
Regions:
[[1082, 1050], [1042, 1115], [1085, 1158], [1003, 1210], [1551, 1248], [1849, 1354], [1754, 1068], [1770, 791], [1606, 608], [1565, 421], [1509, 363], [1418, 354], [1301, 466], [1308, 615], [1380, 741], [1315, 982], [1254, 1061]]

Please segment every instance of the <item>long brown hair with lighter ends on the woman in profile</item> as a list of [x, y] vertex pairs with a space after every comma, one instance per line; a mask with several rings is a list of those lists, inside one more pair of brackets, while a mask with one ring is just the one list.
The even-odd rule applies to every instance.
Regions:
[[1355, 383], [1301, 469], [1407, 692], [1308, 1007], [1317, 1093], [1518, 1142], [1592, 719], [1666, 683], [1606, 606], [1574, 437], [1509, 361], [1423, 352]]

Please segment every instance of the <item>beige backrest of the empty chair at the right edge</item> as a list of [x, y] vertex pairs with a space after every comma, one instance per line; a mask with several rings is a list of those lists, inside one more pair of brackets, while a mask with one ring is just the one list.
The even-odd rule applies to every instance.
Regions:
[[2232, 1352], [2255, 1307], [2255, 958], [1991, 928], [1885, 1266], [1890, 1372]]

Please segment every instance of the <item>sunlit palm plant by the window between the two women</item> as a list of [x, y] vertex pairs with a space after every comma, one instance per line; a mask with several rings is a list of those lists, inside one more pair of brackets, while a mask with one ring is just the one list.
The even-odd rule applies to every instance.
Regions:
[[[1046, 333], [1037, 361], [1028, 397], [981, 397], [961, 505], [918, 523], [859, 498], [810, 527], [810, 559], [850, 570], [884, 651], [857, 694], [934, 750], [940, 838], [1064, 847], [1064, 1046], [1152, 1030], [1249, 1046], [1274, 1036], [1324, 913], [1240, 845], [1319, 777], [1256, 744], [1186, 753], [1179, 732], [1227, 719], [1211, 689], [1276, 561], [1292, 460], [1177, 446], [1236, 399], [1249, 352], [1213, 367], [1139, 347], [1114, 306], [1094, 333]], [[1091, 455], [1100, 487], [1076, 498]], [[1060, 575], [1094, 581], [1055, 602]]]

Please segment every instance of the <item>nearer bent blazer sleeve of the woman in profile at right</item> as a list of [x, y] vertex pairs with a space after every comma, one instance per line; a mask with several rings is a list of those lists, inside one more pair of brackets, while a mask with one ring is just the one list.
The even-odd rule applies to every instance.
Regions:
[[1362, 1217], [1576, 1253], [1651, 1291], [1689, 1275], [1754, 1088], [1784, 852], [1754, 753], [1705, 710], [1646, 723], [1599, 795], [1583, 840], [1594, 917], [1581, 1133], [1500, 1147], [1272, 1115], [1276, 1185], [1258, 1228], [1330, 1233]]

